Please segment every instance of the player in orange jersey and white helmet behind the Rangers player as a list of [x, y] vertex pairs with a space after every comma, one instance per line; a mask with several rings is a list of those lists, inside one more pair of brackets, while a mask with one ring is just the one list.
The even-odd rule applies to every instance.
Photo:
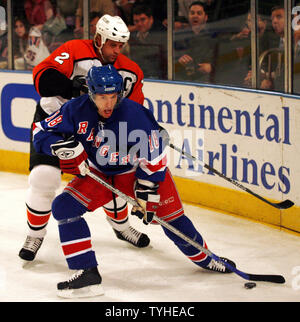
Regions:
[[[143, 104], [143, 72], [121, 53], [130, 32], [118, 17], [102, 16], [93, 40], [70, 40], [57, 48], [33, 70], [33, 81], [41, 99], [33, 122], [41, 121], [59, 110], [68, 100], [87, 92], [85, 76], [92, 66], [113, 64], [124, 80], [124, 96]], [[26, 196], [29, 231], [19, 256], [32, 261], [46, 234], [51, 204], [61, 183], [61, 170], [56, 157], [39, 154], [30, 143], [29, 189]], [[148, 246], [147, 235], [130, 226], [127, 204], [114, 196], [104, 206], [108, 222], [116, 236], [136, 247]]]

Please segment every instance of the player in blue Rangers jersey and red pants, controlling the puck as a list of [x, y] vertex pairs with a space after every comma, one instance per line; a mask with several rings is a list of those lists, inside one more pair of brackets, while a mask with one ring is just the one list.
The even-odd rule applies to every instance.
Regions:
[[[153, 114], [140, 104], [121, 98], [123, 80], [111, 65], [92, 67], [87, 84], [89, 94], [67, 102], [33, 126], [36, 150], [58, 156], [62, 171], [77, 175], [52, 204], [68, 267], [76, 270], [68, 281], [58, 283], [58, 295], [62, 297], [103, 294], [90, 230], [83, 215], [111, 201], [113, 195], [86, 175], [87, 169], [135, 198], [141, 207], [134, 208], [132, 214], [144, 223], [153, 222], [155, 213], [207, 247], [184, 214], [167, 167], [160, 127]], [[230, 272], [222, 263], [162, 228], [196, 265], [216, 272]], [[234, 266], [228, 259], [223, 260]]]

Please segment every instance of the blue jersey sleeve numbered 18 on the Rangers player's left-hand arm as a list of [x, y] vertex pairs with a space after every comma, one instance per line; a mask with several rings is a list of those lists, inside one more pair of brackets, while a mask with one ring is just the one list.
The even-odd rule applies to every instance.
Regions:
[[45, 120], [33, 123], [33, 145], [36, 152], [52, 155], [51, 144], [66, 139], [74, 133], [72, 109], [69, 105], [67, 102]]

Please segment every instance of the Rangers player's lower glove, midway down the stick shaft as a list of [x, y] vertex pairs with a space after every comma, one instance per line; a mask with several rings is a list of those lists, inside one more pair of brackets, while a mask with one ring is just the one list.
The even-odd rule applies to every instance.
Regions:
[[155, 215], [155, 209], [158, 207], [160, 195], [157, 190], [158, 184], [148, 180], [138, 179], [135, 183], [134, 194], [140, 207], [133, 207], [131, 214], [143, 219], [143, 223], [148, 225]]

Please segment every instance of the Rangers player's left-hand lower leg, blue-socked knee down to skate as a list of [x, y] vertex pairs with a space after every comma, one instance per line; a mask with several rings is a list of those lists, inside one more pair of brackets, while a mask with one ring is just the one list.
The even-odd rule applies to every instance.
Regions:
[[95, 252], [92, 250], [91, 233], [82, 217], [86, 211], [85, 206], [66, 192], [53, 201], [52, 213], [58, 221], [62, 250], [69, 269], [76, 270], [69, 280], [57, 284], [57, 294], [61, 297], [103, 294], [102, 278], [97, 269]]

